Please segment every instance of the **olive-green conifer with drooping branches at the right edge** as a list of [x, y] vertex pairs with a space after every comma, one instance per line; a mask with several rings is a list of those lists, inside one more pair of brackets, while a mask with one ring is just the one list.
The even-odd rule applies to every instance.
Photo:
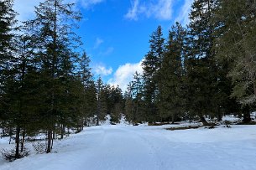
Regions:
[[232, 97], [243, 106], [243, 121], [250, 121], [249, 107], [255, 105], [255, 1], [219, 1], [217, 57], [228, 66], [232, 78]]

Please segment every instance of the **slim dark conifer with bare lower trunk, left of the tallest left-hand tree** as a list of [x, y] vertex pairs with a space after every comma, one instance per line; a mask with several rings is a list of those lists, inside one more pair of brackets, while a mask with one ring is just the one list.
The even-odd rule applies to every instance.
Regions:
[[[34, 65], [33, 65], [33, 57], [30, 54], [29, 49], [29, 37], [28, 36], [18, 36], [17, 44], [16, 44], [16, 54], [13, 57], [13, 67], [11, 71], [11, 75], [13, 77], [12, 80], [8, 81], [8, 85], [12, 86], [12, 90], [8, 91], [8, 94], [11, 95], [12, 104], [11, 110], [13, 111], [10, 114], [11, 120], [16, 126], [16, 154], [15, 158], [19, 158], [19, 143], [20, 143], [20, 132], [23, 129], [23, 138], [26, 127], [29, 126], [28, 122], [31, 121], [31, 118], [34, 114], [32, 114], [28, 108], [31, 107], [31, 103], [29, 97], [29, 87], [31, 88], [30, 74], [34, 74]], [[34, 87], [35, 88], [35, 87]], [[34, 103], [35, 104], [35, 103]], [[24, 149], [24, 139], [22, 142], [21, 152]]]

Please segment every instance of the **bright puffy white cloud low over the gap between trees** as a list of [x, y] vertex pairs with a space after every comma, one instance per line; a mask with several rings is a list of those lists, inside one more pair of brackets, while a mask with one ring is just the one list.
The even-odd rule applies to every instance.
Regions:
[[133, 74], [137, 71], [138, 73], [142, 73], [142, 61], [135, 64], [123, 64], [118, 67], [118, 70], [114, 73], [112, 79], [108, 80], [107, 83], [110, 85], [119, 85], [119, 87], [125, 91], [127, 89], [127, 85], [130, 81], [133, 80]]

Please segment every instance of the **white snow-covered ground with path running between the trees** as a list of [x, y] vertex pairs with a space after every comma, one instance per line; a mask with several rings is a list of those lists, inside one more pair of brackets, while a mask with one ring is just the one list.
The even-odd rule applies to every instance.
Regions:
[[[0, 158], [0, 169], [256, 169], [256, 126], [165, 130], [170, 126], [88, 127], [55, 142], [50, 154], [32, 153], [14, 162]], [[0, 147], [6, 146], [8, 139], [0, 140]]]

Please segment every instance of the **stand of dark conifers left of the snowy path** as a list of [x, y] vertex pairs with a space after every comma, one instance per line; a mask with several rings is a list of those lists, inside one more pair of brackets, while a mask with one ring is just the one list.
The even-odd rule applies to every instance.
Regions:
[[14, 158], [23, 156], [26, 137], [44, 132], [51, 152], [67, 128], [81, 131], [89, 117], [99, 125], [106, 114], [115, 122], [123, 112], [120, 88], [93, 80], [74, 5], [45, 0], [20, 24], [13, 0], [0, 1], [0, 127], [1, 137], [15, 135]]

